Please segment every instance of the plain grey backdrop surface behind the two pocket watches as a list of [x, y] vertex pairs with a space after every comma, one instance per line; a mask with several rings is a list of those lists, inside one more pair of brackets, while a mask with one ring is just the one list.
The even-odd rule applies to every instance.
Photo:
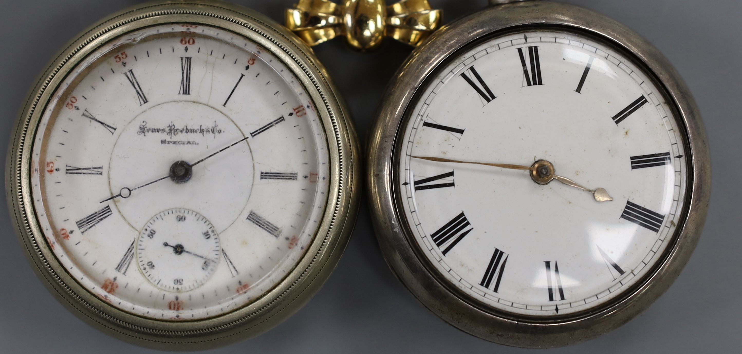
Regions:
[[[0, 147], [27, 90], [79, 31], [136, 0], [1, 2]], [[295, 0], [235, 1], [283, 21]], [[568, 0], [628, 25], [656, 45], [695, 94], [712, 150], [713, 193], [703, 237], [670, 290], [643, 315], [600, 338], [550, 353], [739, 353], [742, 347], [742, 1]], [[445, 21], [485, 0], [432, 0]], [[387, 81], [410, 50], [370, 55], [341, 40], [316, 48], [349, 101], [361, 138]], [[364, 139], [365, 140], [365, 139]], [[2, 154], [4, 156], [4, 153]], [[4, 164], [3, 164], [4, 166]], [[47, 292], [0, 203], [0, 353], [151, 353], [99, 333]], [[736, 349], [735, 349], [736, 348]], [[365, 201], [349, 247], [309, 304], [274, 330], [209, 353], [526, 353], [456, 330], [430, 313], [387, 268]]]

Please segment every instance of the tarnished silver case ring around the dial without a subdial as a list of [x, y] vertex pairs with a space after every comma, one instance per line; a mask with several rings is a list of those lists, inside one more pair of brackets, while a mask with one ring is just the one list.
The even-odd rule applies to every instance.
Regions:
[[[490, 1], [496, 4], [499, 0]], [[599, 308], [548, 319], [486, 307], [436, 275], [422, 256], [401, 213], [395, 166], [401, 132], [418, 90], [459, 51], [502, 33], [528, 28], [568, 30], [602, 41], [642, 64], [686, 130], [689, 187], [684, 218], [657, 266], [636, 286]], [[695, 102], [680, 76], [648, 41], [617, 21], [570, 4], [523, 1], [488, 7], [447, 25], [418, 47], [390, 83], [369, 135], [370, 207], [387, 263], [410, 292], [450, 324], [488, 341], [517, 347], [559, 347], [607, 333], [625, 324], [672, 284], [695, 249], [708, 210], [711, 168], [706, 133]]]

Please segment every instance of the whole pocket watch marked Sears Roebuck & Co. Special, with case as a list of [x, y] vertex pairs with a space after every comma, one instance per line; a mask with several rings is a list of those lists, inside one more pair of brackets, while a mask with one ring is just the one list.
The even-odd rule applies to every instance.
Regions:
[[145, 347], [262, 333], [335, 267], [358, 141], [312, 50], [222, 1], [142, 4], [54, 58], [7, 163], [30, 263], [71, 312]]

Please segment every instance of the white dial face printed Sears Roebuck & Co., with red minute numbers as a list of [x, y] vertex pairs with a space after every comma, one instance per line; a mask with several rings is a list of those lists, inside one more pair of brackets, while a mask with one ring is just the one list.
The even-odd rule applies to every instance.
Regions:
[[328, 161], [286, 64], [234, 33], [168, 24], [109, 41], [65, 79], [34, 136], [33, 201], [94, 295], [147, 318], [209, 318], [295, 268]]

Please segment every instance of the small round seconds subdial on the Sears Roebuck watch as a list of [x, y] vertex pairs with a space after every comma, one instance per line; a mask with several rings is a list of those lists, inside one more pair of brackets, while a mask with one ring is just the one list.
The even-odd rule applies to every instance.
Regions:
[[139, 270], [160, 289], [183, 293], [200, 287], [217, 269], [222, 253], [211, 222], [193, 210], [170, 209], [142, 228]]

